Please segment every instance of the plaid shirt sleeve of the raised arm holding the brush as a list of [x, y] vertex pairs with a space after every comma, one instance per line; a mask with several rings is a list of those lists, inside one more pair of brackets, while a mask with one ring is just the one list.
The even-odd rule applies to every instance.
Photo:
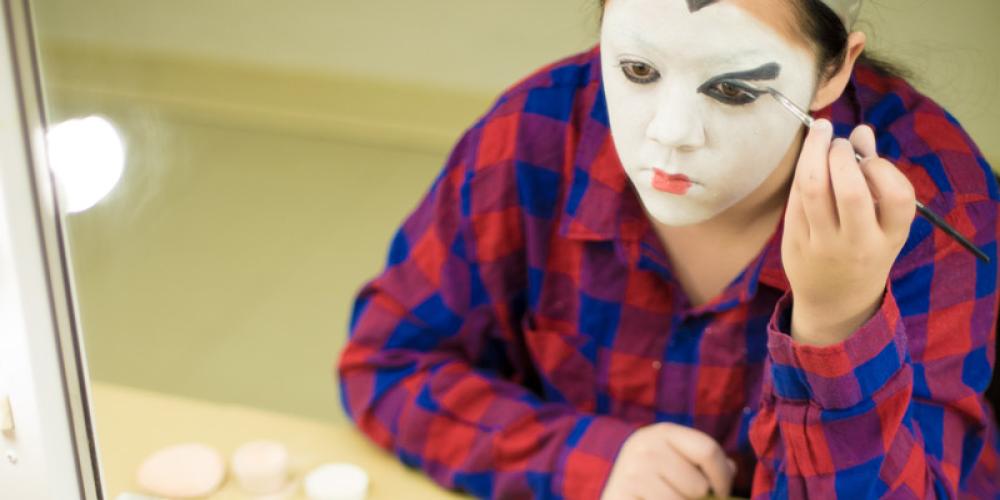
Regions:
[[964, 178], [981, 176], [981, 194], [943, 193], [929, 206], [989, 263], [918, 217], [880, 308], [843, 342], [795, 342], [791, 292], [777, 304], [750, 430], [753, 498], [959, 496], [991, 425], [982, 395], [997, 320], [996, 180], [970, 159], [978, 169]]

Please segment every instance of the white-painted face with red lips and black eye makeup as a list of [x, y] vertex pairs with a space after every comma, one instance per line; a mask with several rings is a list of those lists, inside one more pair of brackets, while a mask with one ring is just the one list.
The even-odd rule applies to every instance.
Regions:
[[805, 107], [814, 68], [807, 48], [725, 0], [608, 2], [601, 69], [611, 135], [649, 214], [697, 224], [753, 193], [801, 123], [737, 85], [771, 86]]

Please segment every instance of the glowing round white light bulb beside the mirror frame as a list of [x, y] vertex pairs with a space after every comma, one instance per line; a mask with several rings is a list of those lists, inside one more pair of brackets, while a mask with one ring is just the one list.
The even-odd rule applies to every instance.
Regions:
[[100, 116], [67, 120], [46, 135], [49, 168], [64, 210], [77, 213], [114, 189], [125, 167], [125, 148], [114, 125]]

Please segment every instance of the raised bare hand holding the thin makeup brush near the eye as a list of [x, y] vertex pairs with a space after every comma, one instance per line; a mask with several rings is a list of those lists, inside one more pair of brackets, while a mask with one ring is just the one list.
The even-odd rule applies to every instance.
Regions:
[[[830, 122], [819, 119], [803, 142], [786, 210], [792, 230], [782, 238], [792, 338], [820, 346], [843, 341], [878, 309], [915, 206], [902, 173], [874, 155], [870, 132], [854, 134], [858, 146], [832, 137]], [[855, 148], [872, 153], [865, 168]]]

